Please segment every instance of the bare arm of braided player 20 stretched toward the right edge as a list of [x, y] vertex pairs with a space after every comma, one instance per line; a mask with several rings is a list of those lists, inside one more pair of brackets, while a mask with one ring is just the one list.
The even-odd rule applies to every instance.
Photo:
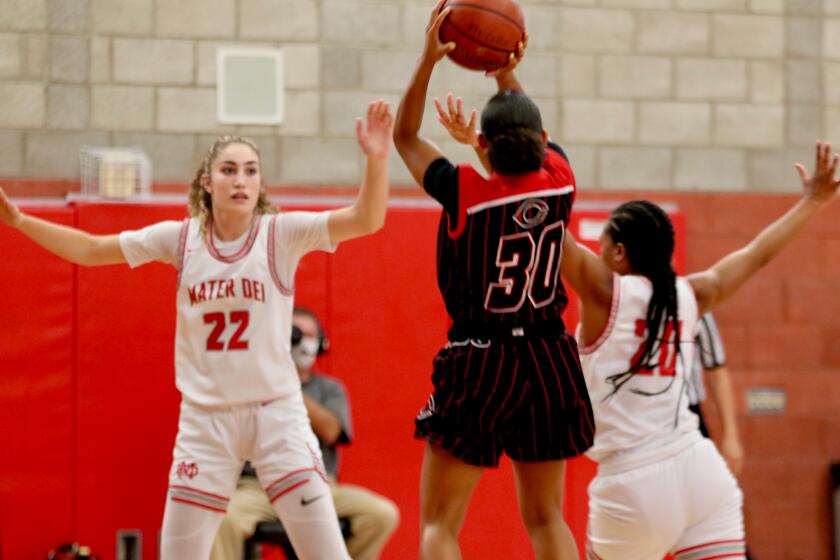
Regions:
[[688, 277], [697, 296], [700, 313], [711, 310], [738, 291], [834, 199], [840, 186], [840, 181], [835, 178], [840, 156], [832, 154], [831, 144], [827, 142], [817, 142], [816, 156], [813, 175], [802, 164], [796, 164], [805, 192], [793, 208], [764, 228], [746, 247], [726, 255], [709, 269]]

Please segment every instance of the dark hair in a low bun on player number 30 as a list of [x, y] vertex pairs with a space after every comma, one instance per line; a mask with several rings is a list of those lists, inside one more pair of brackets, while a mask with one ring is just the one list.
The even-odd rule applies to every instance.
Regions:
[[538, 171], [545, 160], [542, 117], [533, 100], [521, 91], [500, 91], [481, 111], [481, 133], [487, 139], [487, 159], [500, 175]]

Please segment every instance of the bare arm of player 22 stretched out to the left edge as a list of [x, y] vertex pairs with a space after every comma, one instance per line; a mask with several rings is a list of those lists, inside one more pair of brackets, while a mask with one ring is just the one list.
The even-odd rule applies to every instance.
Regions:
[[28, 216], [12, 204], [0, 188], [0, 221], [20, 230], [25, 236], [74, 264], [96, 266], [124, 263], [118, 235], [92, 235]]

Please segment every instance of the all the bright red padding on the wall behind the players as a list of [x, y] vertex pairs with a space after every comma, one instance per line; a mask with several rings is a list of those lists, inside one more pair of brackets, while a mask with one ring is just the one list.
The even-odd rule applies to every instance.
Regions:
[[[597, 230], [608, 209], [579, 204], [571, 231], [586, 220], [587, 231]], [[113, 233], [180, 220], [185, 208], [86, 203], [43, 215]], [[681, 241], [684, 221], [672, 216]], [[434, 207], [391, 208], [376, 235], [304, 258], [295, 283], [297, 303], [322, 317], [332, 341], [318, 365], [346, 384], [351, 399], [356, 441], [343, 454], [341, 479], [401, 507], [385, 559], [414, 556], [419, 538], [423, 444], [412, 438], [413, 417], [448, 327], [435, 283], [438, 217]], [[0, 429], [9, 442], [0, 466], [2, 557], [43, 557], [79, 540], [109, 560], [117, 531], [139, 530], [143, 558], [157, 558], [179, 403], [174, 269], [76, 269], [8, 228], [0, 230], [0, 251], [0, 289], [11, 302], [0, 330]], [[573, 307], [570, 327], [576, 316]], [[570, 462], [565, 510], [579, 540], [593, 473], [585, 459]], [[486, 472], [461, 543], [465, 558], [530, 556], [509, 461]]]

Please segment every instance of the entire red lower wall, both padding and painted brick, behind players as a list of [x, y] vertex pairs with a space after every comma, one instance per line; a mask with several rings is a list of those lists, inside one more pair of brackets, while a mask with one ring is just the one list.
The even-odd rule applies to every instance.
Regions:
[[[697, 270], [778, 216], [791, 196], [607, 193], [676, 202], [686, 268]], [[579, 204], [578, 217], [583, 208]], [[182, 207], [42, 208], [96, 232], [137, 227]], [[434, 285], [434, 212], [393, 208], [383, 232], [302, 263], [298, 301], [324, 315], [333, 351], [322, 367], [348, 386], [357, 441], [343, 478], [391, 496], [403, 523], [385, 558], [412, 557], [422, 443], [412, 418], [430, 389], [446, 321]], [[831, 556], [828, 465], [840, 461], [840, 206], [809, 225], [717, 312], [746, 447], [740, 477], [751, 549], [761, 560]], [[113, 558], [115, 531], [157, 531], [176, 429], [174, 271], [147, 265], [75, 269], [0, 226], [0, 555], [41, 558], [81, 540]], [[386, 263], [391, 263], [390, 265]], [[78, 295], [78, 297], [77, 297]], [[787, 391], [781, 416], [751, 416], [748, 388]], [[712, 425], [714, 430], [715, 426]], [[591, 466], [570, 469], [567, 511], [582, 534]], [[530, 557], [508, 464], [488, 472], [462, 536], [465, 558]]]

